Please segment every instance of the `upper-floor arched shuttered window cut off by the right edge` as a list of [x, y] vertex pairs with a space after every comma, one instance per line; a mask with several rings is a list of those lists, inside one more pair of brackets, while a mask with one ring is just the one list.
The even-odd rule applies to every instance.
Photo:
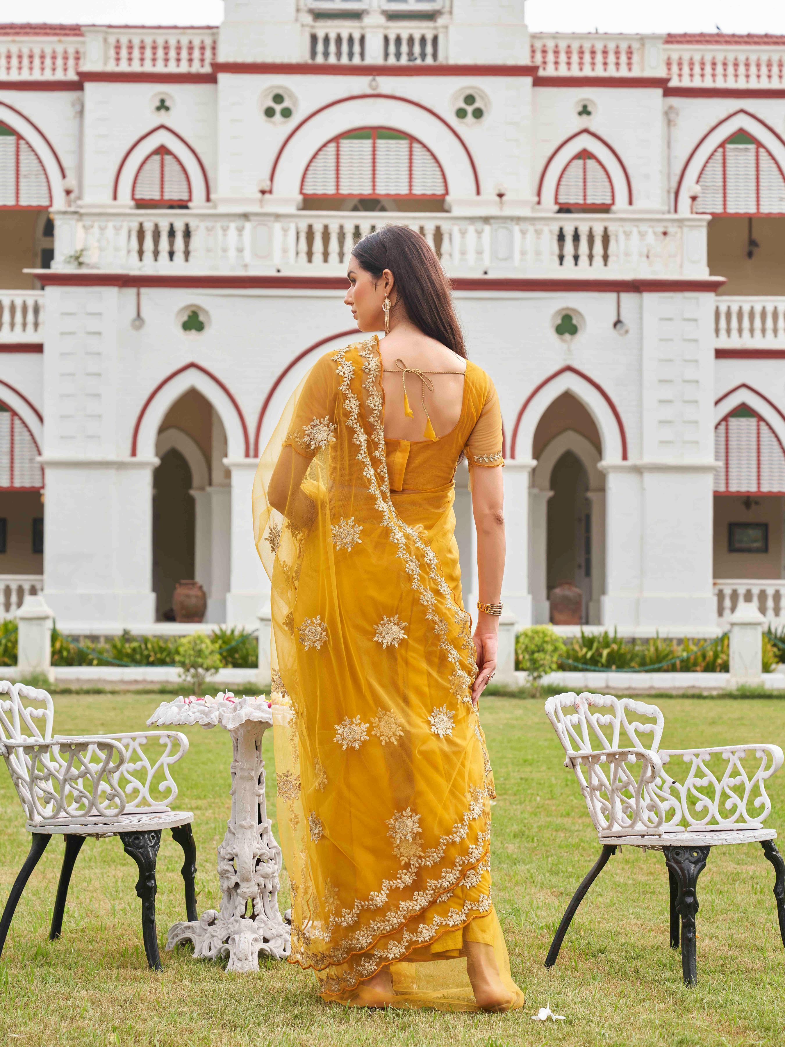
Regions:
[[703, 164], [696, 210], [703, 215], [784, 215], [785, 178], [768, 150], [737, 131]]

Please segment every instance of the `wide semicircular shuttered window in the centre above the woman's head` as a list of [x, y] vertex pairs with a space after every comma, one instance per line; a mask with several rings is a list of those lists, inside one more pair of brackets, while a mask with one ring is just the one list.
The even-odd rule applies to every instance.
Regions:
[[388, 128], [360, 128], [333, 138], [302, 177], [304, 197], [425, 197], [447, 195], [444, 172], [429, 149]]

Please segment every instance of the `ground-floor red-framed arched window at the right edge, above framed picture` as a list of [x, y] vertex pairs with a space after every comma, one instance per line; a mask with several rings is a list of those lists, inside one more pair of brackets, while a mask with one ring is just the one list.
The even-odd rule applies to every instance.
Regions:
[[717, 494], [785, 494], [785, 451], [765, 419], [741, 404], [714, 430]]

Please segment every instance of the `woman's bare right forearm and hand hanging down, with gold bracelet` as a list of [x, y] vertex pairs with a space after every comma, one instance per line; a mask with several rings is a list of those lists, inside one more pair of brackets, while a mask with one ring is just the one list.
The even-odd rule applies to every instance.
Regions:
[[[501, 467], [472, 469], [472, 511], [477, 532], [477, 591], [480, 603], [499, 603], [504, 574], [504, 488]], [[477, 678], [472, 701], [496, 671], [499, 620], [495, 615], [477, 611], [474, 646], [477, 649]]]

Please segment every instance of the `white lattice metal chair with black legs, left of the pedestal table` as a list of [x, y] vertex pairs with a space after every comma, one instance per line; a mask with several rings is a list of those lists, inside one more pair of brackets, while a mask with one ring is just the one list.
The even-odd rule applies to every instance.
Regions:
[[[176, 731], [52, 737], [53, 706], [46, 691], [0, 681], [0, 755], [10, 772], [32, 834], [30, 852], [10, 889], [0, 918], [0, 955], [25, 885], [52, 836], [65, 837], [49, 938], [63, 927], [73, 865], [87, 837], [119, 836], [139, 868], [144, 952], [151, 967], [161, 970], [155, 928], [155, 863], [161, 831], [171, 829], [183, 849], [185, 908], [197, 919], [196, 846], [188, 810], [172, 810], [177, 797], [170, 768], [187, 751], [188, 739]], [[36, 721], [43, 720], [43, 732]], [[145, 752], [148, 742], [160, 751]], [[153, 790], [158, 796], [153, 798]]]

